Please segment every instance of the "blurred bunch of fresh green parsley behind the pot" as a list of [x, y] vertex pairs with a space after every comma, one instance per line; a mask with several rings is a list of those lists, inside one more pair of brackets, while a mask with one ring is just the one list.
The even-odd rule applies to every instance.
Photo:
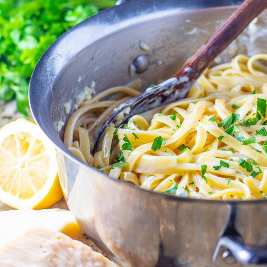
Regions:
[[58, 36], [116, 0], [0, 0], [0, 99], [28, 115], [29, 80]]

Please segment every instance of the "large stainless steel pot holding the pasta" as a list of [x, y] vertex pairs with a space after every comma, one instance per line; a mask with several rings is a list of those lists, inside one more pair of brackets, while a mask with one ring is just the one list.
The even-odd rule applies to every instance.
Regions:
[[[30, 105], [56, 146], [68, 207], [85, 233], [125, 266], [267, 263], [265, 200], [185, 199], [114, 181], [74, 158], [62, 142], [64, 127], [58, 127], [70, 116], [64, 103], [71, 103], [72, 112], [76, 95], [92, 81], [99, 92], [137, 77], [143, 89], [169, 77], [237, 4], [240, 1], [133, 0], [64, 33], [34, 69]], [[237, 52], [266, 52], [266, 14], [259, 20], [263, 26], [258, 32], [249, 29], [217, 61]], [[140, 49], [141, 40], [150, 50]], [[149, 59], [149, 68], [130, 76], [129, 66], [140, 55]]]

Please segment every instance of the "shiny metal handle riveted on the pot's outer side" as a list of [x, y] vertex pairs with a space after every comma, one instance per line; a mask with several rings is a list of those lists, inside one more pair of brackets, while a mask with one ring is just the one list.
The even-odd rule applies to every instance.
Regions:
[[234, 264], [236, 261], [241, 264], [267, 264], [267, 245], [245, 244], [235, 228], [235, 217], [236, 206], [231, 205], [225, 228], [213, 254], [213, 262], [216, 261], [220, 248], [225, 247], [222, 258], [228, 264]]

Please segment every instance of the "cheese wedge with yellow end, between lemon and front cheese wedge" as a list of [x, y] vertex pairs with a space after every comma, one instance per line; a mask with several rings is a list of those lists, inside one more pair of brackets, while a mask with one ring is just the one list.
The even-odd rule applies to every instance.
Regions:
[[58, 231], [71, 238], [78, 238], [81, 232], [74, 216], [64, 209], [2, 211], [0, 226], [0, 247], [9, 239], [35, 227]]

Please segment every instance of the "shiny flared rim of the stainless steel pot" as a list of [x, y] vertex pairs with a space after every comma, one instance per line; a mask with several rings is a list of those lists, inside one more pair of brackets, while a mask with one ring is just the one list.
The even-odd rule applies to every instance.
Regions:
[[[163, 8], [163, 9], [165, 8], [164, 5], [166, 2], [172, 3], [172, 2], [174, 2], [174, 0], [164, 0], [164, 1], [159, 1], [159, 3], [155, 3], [154, 0], [148, 0], [148, 3], [150, 3], [151, 6], [154, 6], [156, 4], [157, 9], [159, 9], [157, 11], [159, 11], [159, 12], [161, 12], [161, 8]], [[200, 3], [197, 4], [197, 3], [192, 3], [191, 0], [184, 0], [183, 3], [181, 3], [181, 2], [176, 3], [175, 10], [179, 9], [180, 12], [190, 10], [190, 11], [194, 12], [195, 10], [206, 9], [206, 8], [234, 9], [234, 7], [236, 7], [241, 2], [242, 2], [242, 0], [217, 0], [217, 1], [212, 1], [212, 2], [210, 2], [209, 0], [204, 0], [204, 1], [201, 1], [201, 4]], [[181, 6], [181, 5], [183, 5], [183, 6]], [[197, 5], [201, 5], [200, 8]], [[36, 124], [48, 136], [48, 138], [52, 141], [52, 143], [54, 144], [56, 149], [58, 151], [60, 151], [60, 153], [64, 154], [64, 156], [66, 156], [71, 161], [74, 161], [76, 164], [82, 166], [83, 168], [87, 168], [90, 171], [94, 171], [98, 175], [100, 175], [100, 172], [98, 170], [96, 170], [95, 168], [90, 167], [87, 164], [80, 161], [78, 158], [76, 158], [74, 155], [72, 155], [71, 152], [64, 145], [63, 141], [60, 139], [59, 135], [56, 133], [54, 126], [52, 124], [51, 114], [50, 114], [50, 104], [49, 105], [47, 104], [45, 106], [45, 108], [42, 109], [42, 111], [40, 111], [40, 109], [39, 109], [40, 101], [51, 99], [52, 87], [56, 85], [58, 79], [61, 77], [61, 74], [64, 72], [65, 68], [68, 66], [68, 64], [71, 62], [71, 60], [73, 60], [74, 57], [73, 58], [70, 58], [70, 57], [67, 58], [67, 61], [57, 62], [57, 63], [59, 63], [59, 66], [56, 67], [56, 69], [55, 69], [56, 74], [54, 77], [51, 77], [52, 78], [51, 81], [48, 79], [49, 77], [47, 76], [48, 62], [51, 58], [53, 58], [53, 56], [60, 54], [59, 50], [62, 48], [62, 46], [61, 46], [62, 43], [64, 41], [70, 39], [70, 38], [73, 38], [72, 35], [75, 36], [75, 33], [77, 31], [80, 31], [82, 28], [85, 28], [85, 27], [90, 28], [94, 25], [97, 25], [97, 24], [99, 25], [99, 23], [102, 26], [107, 26], [107, 25], [110, 26], [111, 21], [108, 21], [108, 19], [109, 19], [111, 14], [113, 14], [113, 15], [116, 14], [119, 17], [123, 17], [123, 13], [125, 12], [125, 10], [132, 10], [132, 13], [130, 14], [132, 17], [131, 16], [129, 17], [129, 14], [128, 14], [127, 20], [134, 18], [136, 20], [136, 22], [140, 21], [140, 20], [137, 20], [137, 18], [142, 17], [144, 15], [149, 15], [148, 10], [146, 10], [145, 13], [143, 13], [143, 14], [138, 13], [136, 15], [134, 11], [137, 12], [139, 6], [142, 6], [142, 8], [144, 7], [144, 5], [142, 5], [142, 0], [135, 0], [135, 1], [133, 0], [133, 1], [118, 5], [118, 6], [114, 6], [112, 8], [107, 9], [107, 10], [101, 11], [97, 15], [94, 15], [92, 17], [85, 19], [81, 23], [72, 27], [66, 33], [63, 33], [55, 42], [53, 42], [50, 45], [50, 47], [41, 56], [41, 58], [39, 59], [38, 63], [36, 64], [36, 66], [33, 70], [33, 74], [32, 74], [31, 80], [30, 80], [29, 103], [30, 103], [30, 109], [31, 109], [31, 112], [32, 112], [32, 115], [33, 115], [33, 118], [34, 118]], [[146, 6], [147, 6], [147, 3], [146, 3]], [[148, 6], [149, 6], [149, 4], [148, 4]], [[173, 8], [172, 8], [172, 10], [173, 10]], [[116, 24], [116, 23], [117, 22], [113, 22], [113, 24]], [[119, 23], [120, 23], [121, 27], [122, 26], [125, 27], [125, 24], [121, 25], [122, 23], [121, 22], [119, 22]], [[112, 28], [112, 29], [111, 28], [110, 27], [108, 28], [108, 30], [105, 32], [105, 35], [109, 35], [109, 34], [112, 34], [114, 32], [114, 28]], [[95, 41], [99, 40], [100, 38], [101, 38], [100, 34], [96, 34], [95, 38], [93, 38], [93, 40], [91, 40], [90, 44], [93, 44]], [[89, 44], [87, 43], [87, 46], [88, 45]], [[85, 47], [83, 49], [85, 49]], [[79, 50], [79, 51], [81, 52], [82, 50]], [[65, 55], [65, 57], [67, 57], [67, 56]], [[66, 60], [66, 58], [65, 58], [65, 60]], [[42, 87], [48, 88], [48, 90], [43, 89], [43, 92], [40, 95], [39, 94], [40, 92], [37, 88], [42, 88]], [[50, 101], [49, 101], [49, 103], [50, 103]], [[43, 114], [49, 114], [50, 115], [49, 122], [47, 120], [47, 117], [44, 118], [44, 116], [42, 116]], [[47, 128], [47, 127], [49, 127], [49, 128]], [[165, 199], [165, 200], [187, 201], [187, 202], [192, 202], [192, 203], [194, 203], [194, 202], [203, 202], [203, 203], [211, 203], [211, 204], [216, 203], [216, 204], [220, 204], [220, 205], [225, 205], [225, 204], [231, 204], [231, 205], [242, 204], [243, 205], [243, 204], [261, 203], [263, 201], [266, 201], [265, 199], [262, 199], [262, 200], [207, 200], [207, 199], [185, 198], [185, 197], [172, 196], [172, 195], [167, 195], [167, 194], [158, 193], [158, 192], [150, 191], [147, 189], [143, 189], [141, 187], [135, 186], [135, 185], [130, 184], [130, 183], [125, 183], [125, 182], [120, 181], [120, 180], [115, 180], [104, 173], [102, 173], [101, 176], [103, 179], [109, 179], [114, 183], [120, 183], [120, 184], [123, 184], [123, 186], [134, 187], [135, 188], [134, 190], [142, 190], [143, 194], [153, 194], [153, 196], [158, 196], [158, 197]]]

